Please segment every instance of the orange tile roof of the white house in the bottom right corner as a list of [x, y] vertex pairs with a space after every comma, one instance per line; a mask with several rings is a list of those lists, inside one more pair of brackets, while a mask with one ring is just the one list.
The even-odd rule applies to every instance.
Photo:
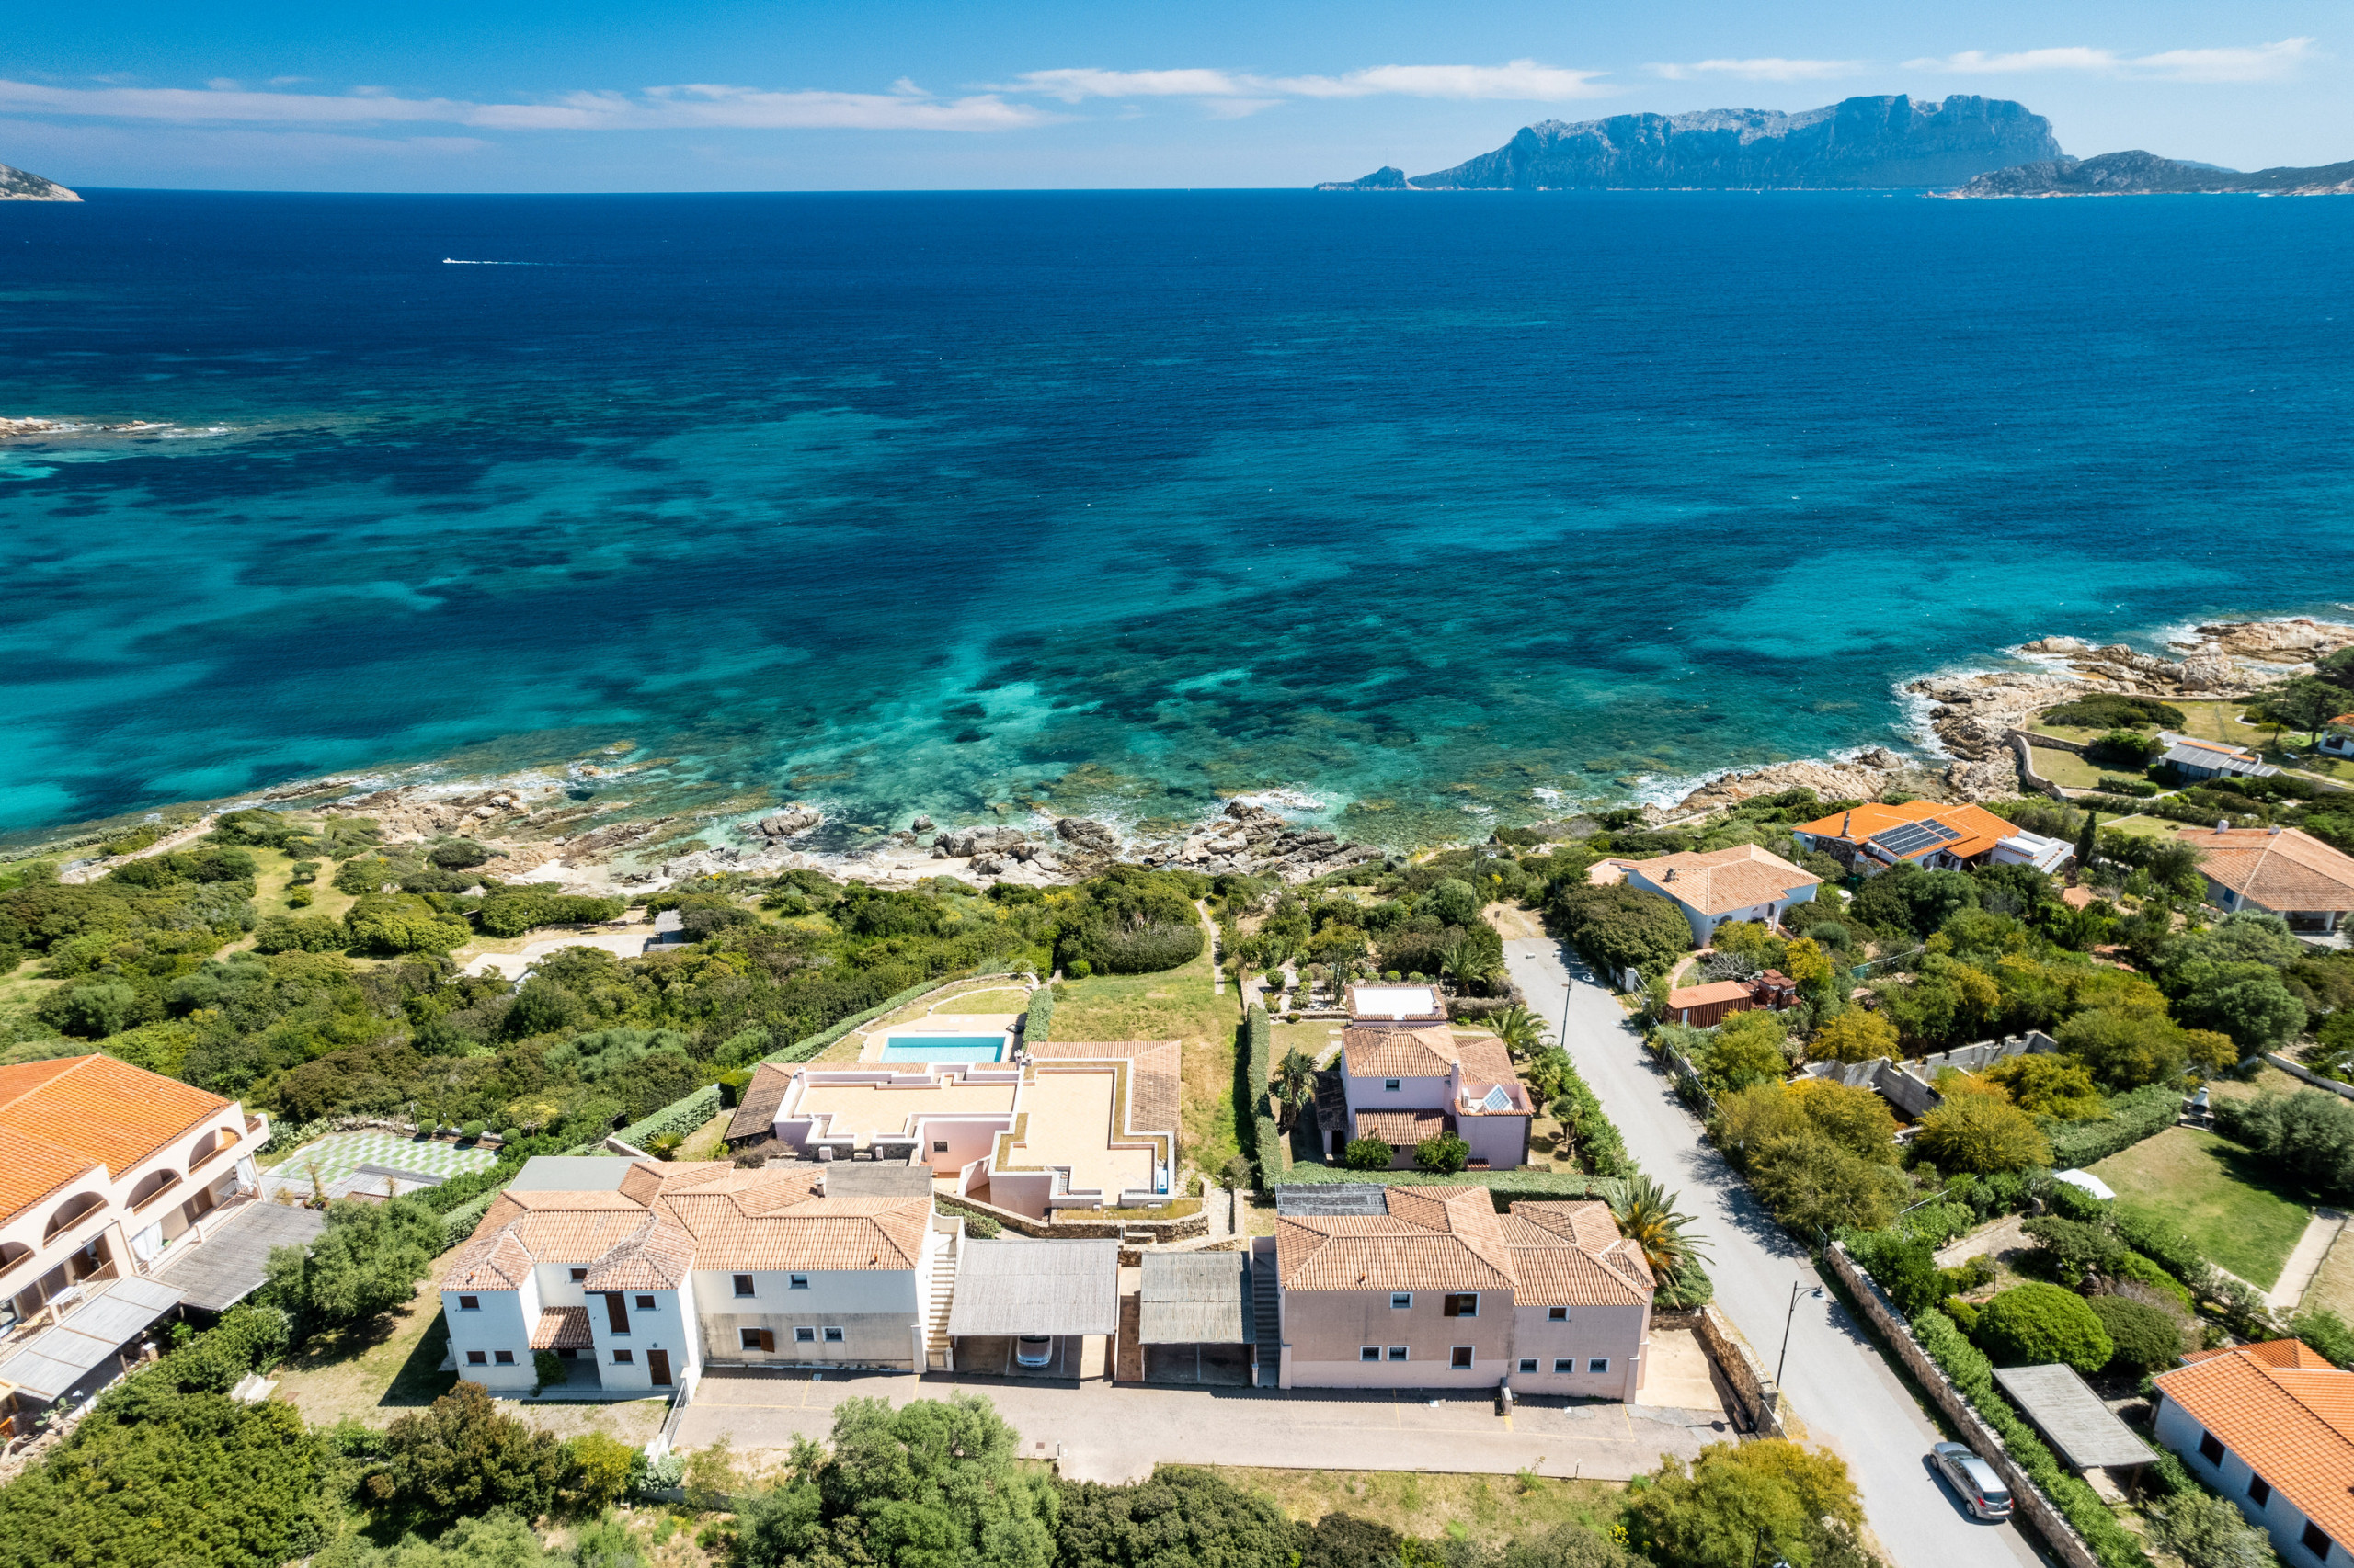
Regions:
[[2274, 1340], [2192, 1358], [2156, 1384], [2330, 1540], [2354, 1542], [2354, 1373]]

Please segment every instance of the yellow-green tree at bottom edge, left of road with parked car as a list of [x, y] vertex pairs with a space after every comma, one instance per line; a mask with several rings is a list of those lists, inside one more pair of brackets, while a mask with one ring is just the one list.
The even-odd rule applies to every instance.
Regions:
[[1667, 1460], [1627, 1514], [1662, 1568], [1813, 1568], [1864, 1519], [1846, 1462], [1780, 1439], [1709, 1443], [1690, 1467]]

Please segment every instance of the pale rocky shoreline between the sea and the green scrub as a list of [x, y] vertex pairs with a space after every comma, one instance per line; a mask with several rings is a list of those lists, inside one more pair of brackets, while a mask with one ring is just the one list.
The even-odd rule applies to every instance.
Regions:
[[[2175, 640], [2180, 657], [2147, 655], [2121, 643], [2095, 647], [2055, 636], [2008, 650], [2043, 669], [1989, 669], [1923, 676], [1900, 687], [1928, 704], [1923, 742], [1930, 756], [1907, 756], [1867, 746], [1843, 758], [1801, 758], [1704, 779], [1674, 805], [1648, 805], [1648, 822], [1688, 822], [1756, 796], [1806, 786], [1822, 798], [1871, 798], [1909, 791], [1930, 800], [1994, 800], [2020, 793], [2017, 753], [2010, 732], [2039, 709], [2090, 692], [2140, 697], [2246, 697], [2253, 690], [2312, 669], [2312, 662], [2354, 647], [2354, 624], [2309, 617], [2276, 622], [2220, 622]], [[1942, 753], [1942, 756], [1937, 756]], [[1224, 812], [1184, 836], [1130, 841], [1116, 826], [1090, 817], [1038, 817], [1026, 826], [939, 829], [916, 817], [906, 829], [855, 850], [826, 850], [812, 838], [826, 815], [796, 800], [753, 819], [727, 822], [711, 815], [626, 817], [626, 779], [633, 768], [572, 763], [532, 770], [499, 782], [391, 784], [358, 777], [282, 784], [233, 805], [320, 803], [337, 817], [377, 819], [388, 843], [419, 843], [443, 833], [466, 833], [494, 852], [485, 876], [558, 883], [577, 892], [650, 892], [713, 876], [822, 871], [869, 883], [916, 883], [956, 876], [967, 883], [1015, 883], [1052, 888], [1102, 873], [1113, 864], [1168, 866], [1208, 876], [1276, 876], [1304, 883], [1368, 862], [1396, 859], [1396, 850], [1346, 843], [1337, 833], [1302, 826], [1262, 800], [1295, 810], [1316, 803], [1290, 793], [1257, 793], [1229, 800]], [[581, 784], [624, 784], [621, 791], [579, 798]], [[179, 843], [200, 824], [174, 833]], [[1568, 829], [1570, 824], [1551, 824]], [[713, 848], [711, 836], [734, 843]], [[692, 841], [692, 848], [690, 848]], [[659, 855], [678, 843], [676, 855]], [[151, 845], [153, 855], [165, 845]], [[68, 881], [101, 876], [134, 857], [71, 864]]]

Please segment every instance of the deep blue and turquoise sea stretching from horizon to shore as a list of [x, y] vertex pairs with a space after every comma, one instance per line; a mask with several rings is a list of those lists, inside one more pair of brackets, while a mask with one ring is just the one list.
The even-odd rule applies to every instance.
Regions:
[[[0, 205], [0, 829], [327, 770], [1417, 843], [2354, 600], [2354, 200]], [[619, 751], [603, 753], [607, 746]]]

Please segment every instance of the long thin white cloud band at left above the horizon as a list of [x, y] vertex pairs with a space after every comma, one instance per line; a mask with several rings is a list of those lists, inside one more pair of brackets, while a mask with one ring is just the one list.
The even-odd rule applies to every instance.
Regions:
[[996, 94], [927, 97], [911, 82], [895, 92], [765, 92], [692, 82], [624, 92], [572, 92], [546, 104], [403, 99], [379, 89], [240, 92], [231, 87], [42, 87], [0, 80], [0, 113], [169, 120], [177, 125], [391, 125], [440, 122], [480, 129], [956, 129], [1048, 125], [1057, 115]]

